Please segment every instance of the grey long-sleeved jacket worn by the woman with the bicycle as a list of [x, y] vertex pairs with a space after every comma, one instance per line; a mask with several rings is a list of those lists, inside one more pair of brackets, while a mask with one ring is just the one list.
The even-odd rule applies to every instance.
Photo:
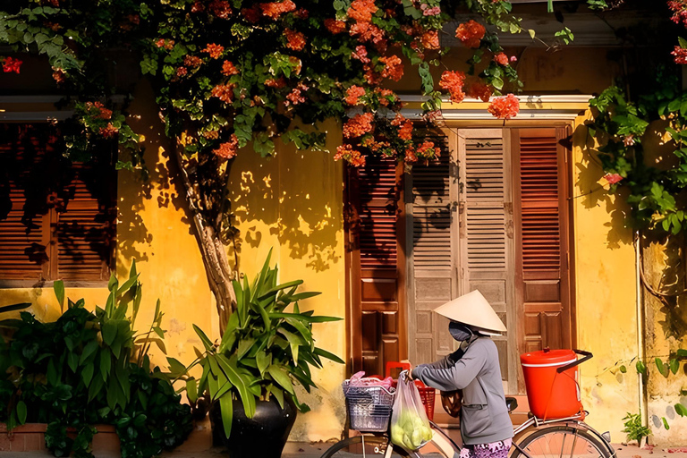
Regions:
[[462, 390], [464, 444], [490, 444], [513, 437], [496, 344], [488, 337], [479, 337], [461, 353], [459, 350], [444, 360], [420, 364], [412, 369], [412, 377], [441, 391]]

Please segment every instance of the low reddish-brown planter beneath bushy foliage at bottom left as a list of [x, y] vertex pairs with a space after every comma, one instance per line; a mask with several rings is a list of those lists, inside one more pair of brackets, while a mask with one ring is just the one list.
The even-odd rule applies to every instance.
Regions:
[[[112, 425], [95, 425], [98, 433], [93, 437], [93, 454], [96, 456], [119, 456], [120, 445], [117, 432]], [[0, 423], [0, 452], [36, 452], [46, 450], [45, 423], [28, 423], [18, 426], [9, 433], [7, 425]], [[67, 431], [76, 436], [76, 431]]]

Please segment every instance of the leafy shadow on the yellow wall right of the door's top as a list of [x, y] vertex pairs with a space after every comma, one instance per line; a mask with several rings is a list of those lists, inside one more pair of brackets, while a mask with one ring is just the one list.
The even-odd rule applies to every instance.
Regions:
[[630, 208], [625, 204], [623, 194], [612, 196], [601, 184], [604, 171], [597, 157], [598, 145], [589, 135], [585, 125], [579, 125], [573, 132], [573, 144], [579, 146], [582, 151], [581, 161], [576, 164], [578, 175], [573, 199], [581, 199], [584, 208], [603, 207], [611, 216], [611, 220], [604, 224], [608, 228], [606, 246], [609, 249], [615, 250], [621, 245], [631, 244], [632, 227], [628, 226], [627, 219]]

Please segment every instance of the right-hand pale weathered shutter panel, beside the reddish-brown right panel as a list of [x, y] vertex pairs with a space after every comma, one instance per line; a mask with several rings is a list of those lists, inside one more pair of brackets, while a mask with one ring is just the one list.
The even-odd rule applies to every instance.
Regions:
[[496, 336], [506, 392], [517, 386], [510, 157], [502, 129], [459, 131], [461, 294], [479, 290], [509, 332]]

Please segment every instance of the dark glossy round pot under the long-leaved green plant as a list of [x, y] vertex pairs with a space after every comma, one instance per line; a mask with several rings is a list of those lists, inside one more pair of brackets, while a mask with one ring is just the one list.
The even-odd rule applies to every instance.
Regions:
[[290, 399], [284, 399], [282, 409], [272, 398], [258, 401], [255, 415], [249, 419], [243, 411], [243, 403], [234, 401], [232, 434], [227, 439], [219, 404], [215, 403], [210, 408], [213, 444], [225, 446], [230, 458], [280, 458], [296, 413], [296, 406]]

